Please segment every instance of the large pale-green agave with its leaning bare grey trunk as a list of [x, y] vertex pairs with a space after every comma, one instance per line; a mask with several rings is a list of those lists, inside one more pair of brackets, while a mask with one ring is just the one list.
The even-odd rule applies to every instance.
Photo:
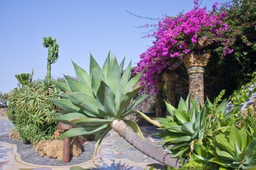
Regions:
[[131, 62], [123, 71], [124, 62], [125, 59], [119, 65], [117, 58], [110, 58], [108, 53], [101, 69], [91, 55], [90, 75], [73, 62], [79, 80], [65, 76], [67, 83], [55, 82], [59, 89], [65, 91], [62, 99], [52, 100], [63, 110], [63, 113], [57, 114], [58, 117], [55, 120], [75, 127], [65, 132], [60, 139], [101, 132], [102, 136], [98, 139], [94, 150], [95, 155], [104, 136], [113, 128], [142, 153], [165, 165], [179, 166], [178, 159], [172, 159], [166, 151], [143, 140], [141, 130], [135, 122], [124, 119], [131, 113], [138, 113], [159, 126], [157, 122], [153, 122], [141, 112], [134, 110], [148, 96], [137, 97], [131, 104], [133, 97], [141, 89], [141, 87], [136, 89], [133, 87], [137, 85], [143, 73], [139, 73], [130, 80]]

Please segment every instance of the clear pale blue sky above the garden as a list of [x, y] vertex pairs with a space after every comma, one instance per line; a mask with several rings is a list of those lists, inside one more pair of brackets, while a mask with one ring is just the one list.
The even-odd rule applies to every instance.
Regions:
[[[220, 0], [203, 0], [212, 7]], [[135, 26], [155, 23], [133, 17], [126, 11], [145, 17], [174, 16], [193, 8], [192, 0], [1, 0], [0, 1], [0, 91], [17, 87], [16, 74], [31, 73], [34, 79], [46, 76], [47, 49], [43, 36], [57, 38], [59, 59], [52, 65], [53, 77], [75, 75], [71, 60], [89, 70], [90, 53], [100, 66], [111, 50], [126, 65], [139, 61], [139, 54], [152, 39], [141, 38], [145, 29]]]

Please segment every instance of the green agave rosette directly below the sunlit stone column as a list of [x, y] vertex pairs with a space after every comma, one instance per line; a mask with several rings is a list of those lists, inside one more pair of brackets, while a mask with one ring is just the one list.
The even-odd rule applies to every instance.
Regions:
[[[209, 121], [209, 114], [214, 110], [214, 105], [207, 100], [203, 106], [197, 107], [197, 99], [189, 103], [187, 97], [186, 101], [181, 98], [178, 108], [174, 108], [168, 102], [166, 108], [170, 116], [158, 119], [162, 124], [159, 129], [164, 131], [158, 132], [156, 136], [164, 138], [161, 143], [170, 149], [172, 157], [191, 157], [195, 144], [202, 144], [203, 138], [207, 135], [212, 136], [212, 131], [216, 127]], [[225, 109], [226, 101], [222, 101], [214, 111], [224, 113]]]

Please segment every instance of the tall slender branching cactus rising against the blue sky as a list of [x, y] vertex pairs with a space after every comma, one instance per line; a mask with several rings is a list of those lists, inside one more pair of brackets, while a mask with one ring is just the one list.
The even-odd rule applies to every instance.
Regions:
[[48, 48], [48, 58], [47, 58], [47, 79], [51, 79], [51, 64], [55, 63], [59, 58], [59, 45], [56, 43], [56, 39], [49, 37], [44, 37], [44, 42], [42, 45]]

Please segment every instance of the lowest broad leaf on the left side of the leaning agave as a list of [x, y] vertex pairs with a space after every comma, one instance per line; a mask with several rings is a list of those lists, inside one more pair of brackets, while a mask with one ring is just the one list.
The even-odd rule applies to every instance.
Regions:
[[70, 130], [67, 130], [67, 132], [59, 136], [59, 140], [80, 135], [96, 134], [97, 132], [104, 130], [107, 126], [107, 124], [104, 124], [102, 126], [99, 126], [98, 128], [94, 128], [93, 130], [87, 130], [86, 128], [71, 128]]

